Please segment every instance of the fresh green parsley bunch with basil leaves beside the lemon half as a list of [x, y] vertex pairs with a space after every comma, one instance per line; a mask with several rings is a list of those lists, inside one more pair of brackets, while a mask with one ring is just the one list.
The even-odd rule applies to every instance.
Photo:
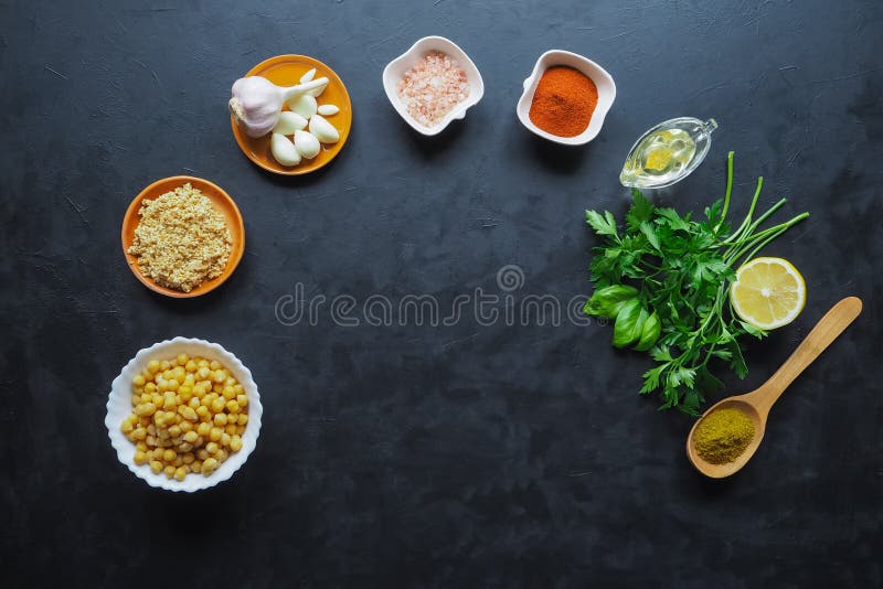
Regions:
[[698, 415], [706, 392], [723, 387], [709, 367], [724, 361], [740, 378], [748, 372], [738, 339], [766, 332], [740, 320], [728, 304], [735, 269], [769, 242], [807, 218], [760, 229], [786, 200], [754, 217], [764, 179], [757, 179], [748, 214], [731, 231], [726, 223], [733, 191], [733, 152], [727, 156], [726, 194], [693, 221], [673, 208], [655, 206], [640, 191], [625, 227], [614, 215], [586, 211], [586, 222], [604, 239], [594, 248], [595, 291], [584, 311], [614, 320], [613, 344], [646, 351], [657, 365], [643, 373], [641, 394], [659, 390], [662, 409], [677, 407]]

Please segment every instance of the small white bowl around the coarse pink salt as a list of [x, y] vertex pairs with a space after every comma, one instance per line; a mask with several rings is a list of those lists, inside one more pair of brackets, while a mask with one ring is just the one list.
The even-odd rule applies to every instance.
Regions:
[[[427, 127], [414, 120], [414, 117], [408, 115], [407, 108], [401, 98], [398, 98], [398, 88], [396, 84], [405, 75], [405, 72], [414, 67], [416, 63], [427, 53], [432, 51], [440, 51], [457, 60], [457, 63], [466, 72], [466, 79], [469, 82], [469, 96], [466, 100], [458, 104], [454, 109], [445, 115], [445, 117], [432, 127]], [[401, 115], [405, 121], [411, 125], [414, 130], [425, 136], [438, 135], [454, 119], [461, 119], [466, 116], [466, 110], [475, 106], [485, 96], [485, 81], [481, 79], [481, 74], [472, 63], [472, 60], [462, 51], [456, 43], [444, 36], [424, 36], [416, 43], [411, 45], [411, 49], [405, 53], [386, 64], [383, 68], [383, 89], [386, 90], [386, 97], [395, 108], [395, 111]]]

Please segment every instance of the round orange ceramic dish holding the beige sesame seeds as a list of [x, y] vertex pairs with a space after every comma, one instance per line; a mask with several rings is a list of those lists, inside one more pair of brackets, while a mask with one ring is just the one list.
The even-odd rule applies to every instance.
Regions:
[[[227, 266], [224, 268], [224, 271], [221, 272], [221, 276], [211, 280], [206, 280], [190, 292], [182, 292], [180, 290], [159, 286], [153, 280], [142, 275], [141, 269], [138, 267], [136, 257], [129, 255], [129, 247], [135, 238], [135, 228], [141, 221], [138, 216], [138, 211], [141, 208], [141, 201], [145, 199], [157, 199], [167, 192], [171, 192], [177, 188], [183, 186], [188, 182], [190, 182], [191, 186], [199, 189], [200, 192], [208, 196], [209, 200], [212, 201], [214, 207], [221, 212], [222, 215], [224, 215], [227, 228], [230, 229], [232, 244], [230, 258], [227, 259]], [[135, 197], [129, 207], [126, 210], [126, 216], [123, 217], [123, 254], [126, 256], [126, 261], [129, 265], [129, 269], [131, 269], [131, 272], [135, 275], [135, 277], [147, 288], [159, 292], [160, 294], [166, 294], [167, 297], [185, 299], [199, 297], [200, 294], [205, 294], [206, 292], [216, 289], [224, 283], [224, 281], [230, 278], [230, 275], [233, 274], [233, 270], [236, 269], [236, 266], [238, 266], [240, 260], [242, 259], [242, 254], [244, 250], [245, 226], [243, 225], [242, 214], [240, 214], [236, 203], [233, 202], [233, 199], [230, 197], [230, 194], [224, 192], [221, 186], [201, 178], [193, 178], [190, 175], [173, 175], [170, 178], [163, 178], [162, 180], [157, 180]]]

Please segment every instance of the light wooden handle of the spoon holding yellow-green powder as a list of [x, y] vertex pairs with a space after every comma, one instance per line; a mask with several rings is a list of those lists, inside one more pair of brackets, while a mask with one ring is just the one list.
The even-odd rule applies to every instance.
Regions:
[[756, 406], [762, 410], [762, 415], [769, 411], [773, 404], [788, 388], [795, 378], [809, 366], [831, 342], [843, 333], [859, 313], [862, 312], [862, 301], [858, 297], [847, 297], [830, 311], [828, 311], [809, 335], [800, 342], [797, 350], [785, 361], [785, 364], [769, 377], [769, 379], [757, 392]]

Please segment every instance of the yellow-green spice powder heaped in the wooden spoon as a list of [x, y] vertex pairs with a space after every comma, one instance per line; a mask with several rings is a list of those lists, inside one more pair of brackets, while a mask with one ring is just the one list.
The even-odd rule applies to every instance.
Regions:
[[702, 418], [693, 432], [696, 453], [712, 464], [733, 462], [754, 439], [752, 418], [738, 409], [717, 409]]

